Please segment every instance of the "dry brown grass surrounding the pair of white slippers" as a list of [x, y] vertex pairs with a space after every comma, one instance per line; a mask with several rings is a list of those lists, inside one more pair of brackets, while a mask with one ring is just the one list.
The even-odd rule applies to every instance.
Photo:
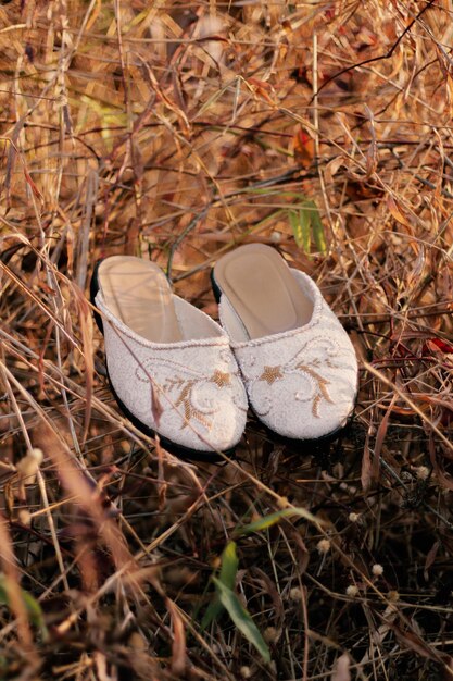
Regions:
[[[453, 678], [452, 18], [449, 0], [3, 0], [1, 679]], [[251, 419], [236, 461], [184, 463], [118, 413], [87, 283], [141, 255], [215, 315], [210, 265], [248, 240], [350, 332], [355, 418], [316, 450]], [[237, 532], [292, 506], [323, 524]], [[231, 537], [270, 665], [225, 612], [201, 628]]]

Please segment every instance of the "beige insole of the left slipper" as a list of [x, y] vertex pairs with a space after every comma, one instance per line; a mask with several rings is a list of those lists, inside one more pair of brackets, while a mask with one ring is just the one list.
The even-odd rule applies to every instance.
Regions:
[[162, 270], [133, 256], [112, 256], [98, 270], [106, 307], [129, 329], [153, 343], [183, 338], [172, 290]]

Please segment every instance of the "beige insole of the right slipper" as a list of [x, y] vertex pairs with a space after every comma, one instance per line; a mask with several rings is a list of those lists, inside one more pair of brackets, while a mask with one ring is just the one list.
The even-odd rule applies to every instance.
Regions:
[[214, 278], [242, 321], [249, 338], [298, 329], [312, 318], [312, 300], [270, 246], [240, 246], [218, 260]]

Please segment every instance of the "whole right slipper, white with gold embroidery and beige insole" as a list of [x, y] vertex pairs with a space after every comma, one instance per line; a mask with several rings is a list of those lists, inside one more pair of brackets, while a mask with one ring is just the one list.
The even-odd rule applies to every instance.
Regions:
[[250, 244], [212, 271], [219, 318], [257, 418], [278, 435], [330, 437], [357, 394], [354, 348], [314, 281]]

